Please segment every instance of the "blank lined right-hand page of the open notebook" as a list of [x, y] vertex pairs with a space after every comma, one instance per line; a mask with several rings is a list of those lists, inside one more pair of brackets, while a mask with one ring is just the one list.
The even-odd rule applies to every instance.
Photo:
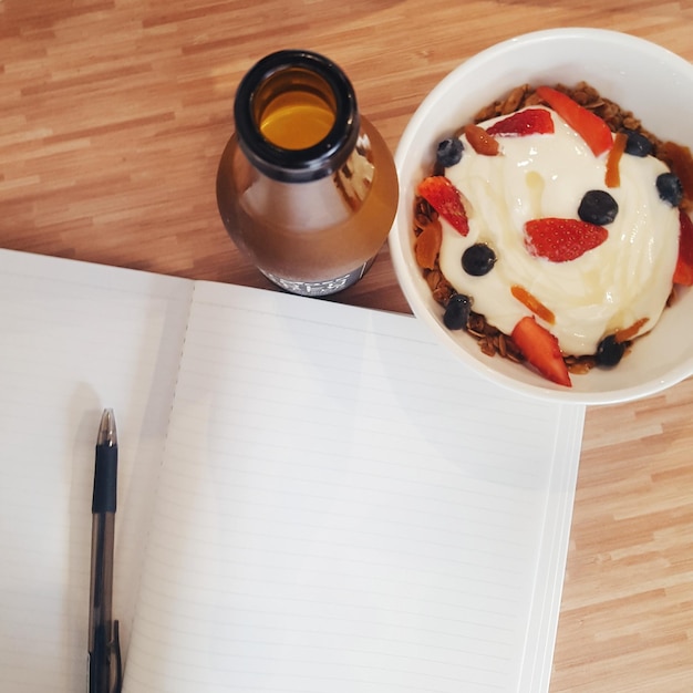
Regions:
[[125, 691], [548, 689], [583, 407], [198, 282]]

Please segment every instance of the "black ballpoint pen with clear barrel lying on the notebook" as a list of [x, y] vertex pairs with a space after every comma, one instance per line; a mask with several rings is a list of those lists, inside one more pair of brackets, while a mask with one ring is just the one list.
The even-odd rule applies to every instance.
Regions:
[[118, 693], [118, 622], [113, 621], [113, 541], [117, 488], [117, 434], [104, 410], [96, 438], [92, 497], [92, 573], [89, 613], [89, 693]]

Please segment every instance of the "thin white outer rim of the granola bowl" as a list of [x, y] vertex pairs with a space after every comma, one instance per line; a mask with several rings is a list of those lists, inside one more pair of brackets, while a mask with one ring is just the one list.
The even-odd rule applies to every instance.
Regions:
[[[422, 320], [431, 329], [432, 333], [436, 337], [436, 340], [441, 342], [446, 349], [463, 363], [465, 368], [470, 368], [473, 371], [480, 373], [487, 380], [496, 383], [497, 385], [510, 390], [515, 393], [528, 395], [530, 397], [537, 397], [541, 400], [551, 400], [558, 403], [566, 404], [580, 404], [580, 405], [603, 405], [616, 404], [628, 401], [640, 400], [653, 394], [656, 394], [668, 387], [680, 383], [681, 381], [693, 374], [693, 353], [682, 362], [678, 363], [674, 368], [668, 371], [664, 375], [658, 377], [650, 377], [649, 380], [638, 383], [628, 387], [618, 387], [602, 391], [576, 391], [572, 389], [561, 387], [555, 385], [549, 381], [541, 384], [534, 384], [529, 382], [520, 382], [506, 373], [493, 368], [490, 358], [487, 358], [488, 363], [484, 360], [474, 358], [455, 340], [452, 332], [445, 330], [439, 322], [425, 306], [421, 304], [420, 292], [414, 283], [412, 277], [411, 266], [407, 265], [406, 251], [404, 242], [408, 244], [408, 238], [405, 237], [405, 232], [400, 230], [401, 219], [405, 217], [408, 211], [406, 206], [408, 205], [407, 190], [403, 190], [402, 183], [402, 166], [405, 162], [407, 151], [411, 143], [418, 131], [420, 126], [427, 120], [428, 114], [433, 105], [439, 101], [439, 96], [449, 91], [452, 83], [457, 82], [467, 72], [475, 72], [480, 65], [489, 60], [497, 60], [508, 51], [513, 51], [518, 46], [525, 44], [536, 44], [537, 42], [557, 41], [557, 40], [597, 40], [601, 42], [616, 43], [621, 45], [629, 45], [635, 48], [638, 51], [656, 56], [660, 60], [666, 60], [670, 64], [676, 66], [682, 71], [693, 71], [693, 64], [684, 60], [682, 56], [670, 51], [669, 49], [653, 43], [647, 39], [628, 34], [624, 32], [599, 29], [599, 28], [583, 28], [583, 27], [567, 27], [567, 28], [554, 28], [544, 29], [539, 31], [531, 31], [527, 33], [506, 39], [498, 43], [495, 43], [480, 52], [464, 60], [459, 65], [449, 71], [436, 85], [424, 96], [418, 107], [410, 118], [406, 127], [400, 138], [397, 147], [395, 149], [394, 161], [400, 178], [400, 200], [397, 204], [397, 211], [393, 221], [391, 231], [389, 234], [389, 246], [391, 252], [391, 259], [394, 266], [395, 276], [400, 283], [405, 299], [416, 317]], [[411, 248], [408, 249], [411, 252]]]

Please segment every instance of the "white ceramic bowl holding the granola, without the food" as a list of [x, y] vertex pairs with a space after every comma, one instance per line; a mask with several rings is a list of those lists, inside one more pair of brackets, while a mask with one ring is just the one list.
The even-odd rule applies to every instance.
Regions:
[[400, 206], [390, 232], [397, 279], [414, 314], [464, 364], [489, 380], [532, 396], [583, 404], [643, 397], [693, 373], [693, 290], [666, 309], [654, 330], [611, 370], [573, 375], [572, 387], [555, 385], [529, 368], [484, 355], [477, 342], [443, 325], [413, 251], [413, 204], [437, 143], [514, 86], [587, 81], [639, 117], [662, 138], [693, 148], [693, 65], [628, 34], [599, 29], [555, 29], [520, 35], [483, 51], [448, 74], [423, 101], [396, 151]]

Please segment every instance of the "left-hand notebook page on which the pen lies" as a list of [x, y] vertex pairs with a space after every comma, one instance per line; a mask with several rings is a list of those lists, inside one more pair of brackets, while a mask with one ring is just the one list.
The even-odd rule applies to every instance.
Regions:
[[84, 691], [94, 446], [120, 435], [127, 647], [193, 283], [0, 250], [0, 690]]

